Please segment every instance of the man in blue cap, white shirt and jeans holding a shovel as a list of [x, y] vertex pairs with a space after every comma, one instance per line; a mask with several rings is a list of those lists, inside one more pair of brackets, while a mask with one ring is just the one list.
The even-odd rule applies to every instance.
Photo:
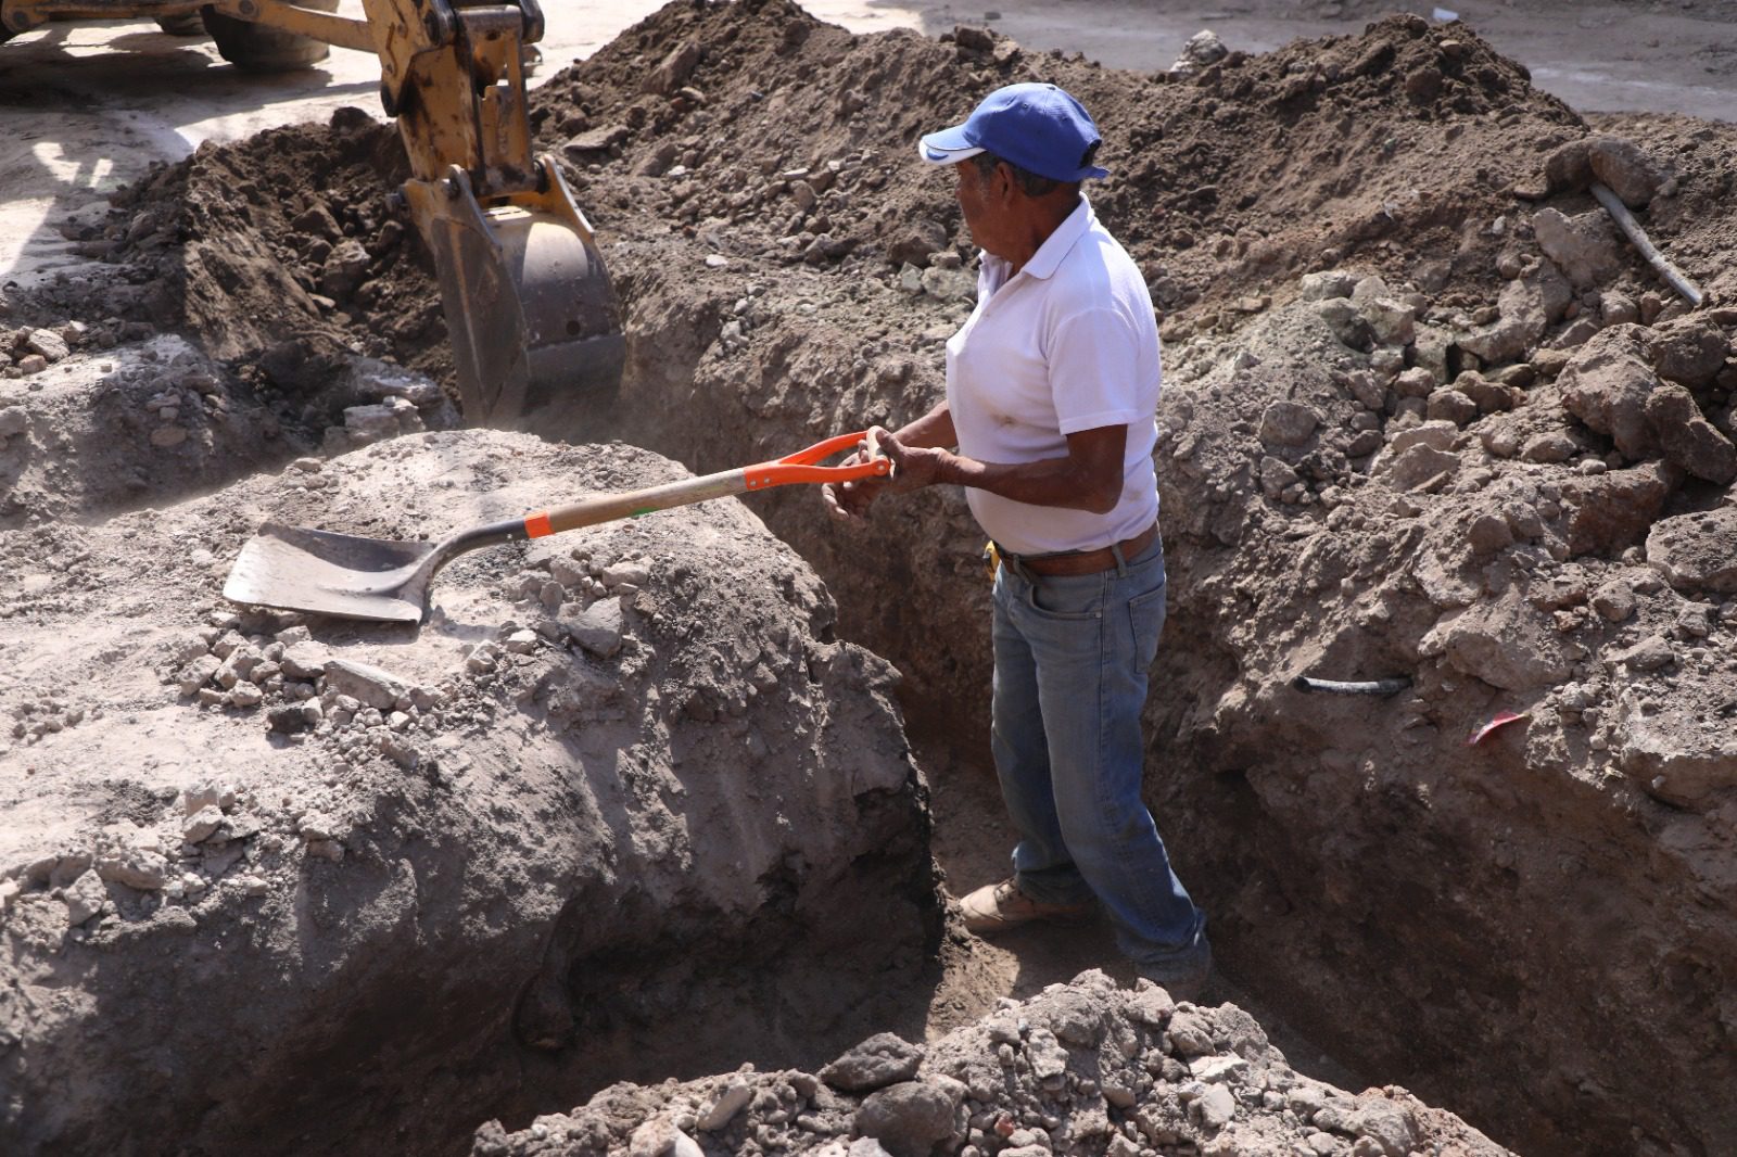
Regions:
[[961, 485], [999, 551], [992, 744], [1020, 841], [1013, 877], [961, 902], [966, 926], [1079, 917], [1096, 896], [1138, 971], [1188, 997], [1211, 969], [1205, 916], [1139, 796], [1166, 592], [1159, 332], [1139, 269], [1080, 195], [1108, 175], [1098, 144], [1080, 102], [1046, 83], [999, 89], [922, 137], [922, 160], [954, 167], [981, 248], [978, 304], [947, 342], [947, 400], [874, 431], [893, 478], [825, 502], [860, 521], [881, 492]]

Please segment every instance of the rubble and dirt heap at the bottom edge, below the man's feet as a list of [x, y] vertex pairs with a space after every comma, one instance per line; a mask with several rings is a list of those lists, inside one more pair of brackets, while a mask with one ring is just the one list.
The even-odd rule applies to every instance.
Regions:
[[1219, 1157], [1504, 1154], [1405, 1089], [1351, 1094], [1296, 1074], [1235, 1004], [1176, 1004], [1103, 973], [1001, 1001], [922, 1048], [879, 1034], [818, 1074], [738, 1072], [655, 1088], [617, 1084], [571, 1114], [472, 1157], [827, 1154], [1046, 1157], [1199, 1152]]

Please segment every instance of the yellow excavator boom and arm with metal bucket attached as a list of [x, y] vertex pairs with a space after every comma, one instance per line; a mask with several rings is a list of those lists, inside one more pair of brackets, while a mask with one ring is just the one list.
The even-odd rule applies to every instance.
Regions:
[[[537, 0], [0, 0], [0, 40], [45, 21], [148, 17], [198, 26], [252, 71], [302, 68], [327, 45], [380, 59], [410, 179], [393, 196], [434, 259], [466, 419], [573, 434], [587, 394], [620, 382], [627, 340], [591, 222], [554, 158], [532, 155], [525, 52]], [[196, 21], [196, 24], [195, 24]]]

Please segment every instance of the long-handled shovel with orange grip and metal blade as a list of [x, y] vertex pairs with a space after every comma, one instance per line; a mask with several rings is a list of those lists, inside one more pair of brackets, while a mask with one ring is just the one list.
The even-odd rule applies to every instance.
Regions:
[[775, 462], [690, 478], [686, 481], [598, 495], [525, 518], [472, 526], [441, 542], [394, 542], [266, 523], [241, 547], [222, 594], [234, 603], [313, 612], [372, 622], [422, 622], [429, 584], [452, 559], [500, 542], [596, 526], [674, 506], [768, 490], [789, 483], [830, 483], [877, 478], [891, 460], [870, 441], [868, 460], [855, 466], [816, 466], [868, 440], [867, 433], [841, 434]]

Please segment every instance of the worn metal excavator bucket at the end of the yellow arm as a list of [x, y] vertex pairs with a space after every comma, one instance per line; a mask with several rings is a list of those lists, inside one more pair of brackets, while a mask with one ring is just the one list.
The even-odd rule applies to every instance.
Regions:
[[434, 255], [466, 419], [578, 434], [587, 396], [613, 393], [627, 339], [591, 224], [549, 158], [540, 191], [478, 202], [466, 172], [410, 181]]

